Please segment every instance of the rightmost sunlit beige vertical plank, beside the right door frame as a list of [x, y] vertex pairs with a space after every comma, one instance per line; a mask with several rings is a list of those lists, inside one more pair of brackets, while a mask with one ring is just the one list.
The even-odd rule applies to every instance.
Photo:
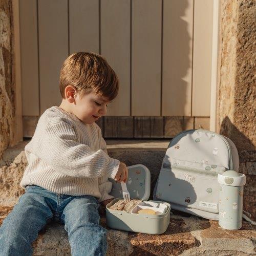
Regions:
[[213, 0], [195, 0], [192, 115], [210, 116]]

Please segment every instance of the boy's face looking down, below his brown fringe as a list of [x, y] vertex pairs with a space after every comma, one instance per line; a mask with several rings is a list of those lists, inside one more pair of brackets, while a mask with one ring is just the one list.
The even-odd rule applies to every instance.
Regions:
[[108, 99], [98, 96], [94, 91], [81, 97], [76, 95], [73, 114], [75, 114], [83, 123], [92, 124], [101, 116], [106, 115]]

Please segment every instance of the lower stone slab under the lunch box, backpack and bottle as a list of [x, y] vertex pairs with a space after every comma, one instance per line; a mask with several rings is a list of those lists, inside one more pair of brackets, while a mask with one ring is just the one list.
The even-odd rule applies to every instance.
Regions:
[[[0, 225], [11, 209], [0, 206]], [[104, 216], [101, 225], [109, 230], [109, 256], [255, 254], [256, 231], [245, 221], [240, 230], [231, 231], [221, 228], [217, 221], [174, 211], [167, 230], [159, 235], [109, 229]], [[59, 223], [48, 224], [40, 231], [33, 249], [33, 255], [71, 255], [67, 232]]]

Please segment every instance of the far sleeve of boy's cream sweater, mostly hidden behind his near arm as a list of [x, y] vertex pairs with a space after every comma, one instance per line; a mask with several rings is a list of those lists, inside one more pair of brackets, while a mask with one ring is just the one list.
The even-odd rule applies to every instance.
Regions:
[[[101, 136], [101, 130], [99, 130], [99, 138], [100, 138], [101, 150], [103, 150], [106, 154], [108, 154], [108, 151], [106, 150], [106, 142]], [[99, 198], [99, 202], [114, 198], [113, 196], [109, 195], [111, 188], [112, 188], [112, 182], [109, 181], [106, 175], [99, 178], [99, 191], [101, 194], [101, 197]]]

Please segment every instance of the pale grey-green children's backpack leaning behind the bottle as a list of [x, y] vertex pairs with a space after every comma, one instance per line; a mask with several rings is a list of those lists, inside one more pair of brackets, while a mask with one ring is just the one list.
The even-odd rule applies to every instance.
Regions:
[[227, 137], [187, 130], [170, 141], [154, 188], [154, 200], [172, 209], [218, 220], [218, 174], [239, 169], [238, 151]]

